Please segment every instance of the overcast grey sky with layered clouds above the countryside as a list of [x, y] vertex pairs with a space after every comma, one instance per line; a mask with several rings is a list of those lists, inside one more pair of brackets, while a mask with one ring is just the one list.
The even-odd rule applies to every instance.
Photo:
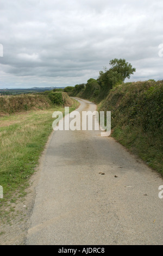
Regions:
[[136, 68], [126, 81], [163, 80], [162, 13], [162, 0], [1, 0], [0, 88], [86, 83], [114, 58]]

